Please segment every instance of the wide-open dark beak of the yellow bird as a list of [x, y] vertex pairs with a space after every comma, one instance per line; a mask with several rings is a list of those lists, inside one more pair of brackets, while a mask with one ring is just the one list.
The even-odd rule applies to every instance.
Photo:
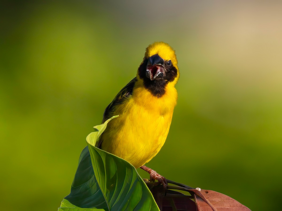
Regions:
[[148, 59], [146, 77], [150, 80], [164, 79], [164, 60], [155, 54]]

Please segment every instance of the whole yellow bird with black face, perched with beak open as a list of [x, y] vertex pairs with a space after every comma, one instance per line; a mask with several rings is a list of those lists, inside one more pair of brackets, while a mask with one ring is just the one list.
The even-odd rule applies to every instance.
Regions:
[[164, 42], [146, 48], [143, 62], [133, 78], [105, 109], [103, 122], [111, 120], [96, 147], [110, 152], [150, 173], [150, 179], [166, 183], [164, 177], [144, 166], [162, 148], [177, 102], [175, 84], [179, 69], [175, 51]]

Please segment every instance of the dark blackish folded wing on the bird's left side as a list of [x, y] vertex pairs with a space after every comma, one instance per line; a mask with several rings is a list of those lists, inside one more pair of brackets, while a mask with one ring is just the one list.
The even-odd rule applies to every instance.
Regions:
[[[122, 104], [124, 102], [124, 100], [127, 100], [130, 98], [130, 96], [132, 95], [133, 92], [133, 87], [134, 84], [136, 83], [137, 78], [133, 78], [125, 87], [122, 88], [122, 90], [120, 90], [120, 92], [115, 96], [115, 98], [113, 99], [113, 101], [109, 104], [109, 106], [107, 106], [107, 108], [105, 109], [104, 115], [103, 115], [103, 121], [102, 123], [104, 123], [106, 120], [108, 120], [109, 118], [111, 118], [114, 115], [118, 115], [115, 114], [114, 111], [116, 110], [116, 106]], [[100, 148], [101, 144], [102, 144], [102, 139], [100, 139], [97, 147]]]

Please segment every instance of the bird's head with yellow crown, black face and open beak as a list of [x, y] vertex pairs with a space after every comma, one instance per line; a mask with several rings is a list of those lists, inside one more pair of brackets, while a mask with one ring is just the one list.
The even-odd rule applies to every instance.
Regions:
[[165, 42], [154, 42], [146, 48], [145, 57], [137, 71], [137, 79], [157, 97], [165, 93], [168, 84], [175, 85], [179, 69], [175, 51]]

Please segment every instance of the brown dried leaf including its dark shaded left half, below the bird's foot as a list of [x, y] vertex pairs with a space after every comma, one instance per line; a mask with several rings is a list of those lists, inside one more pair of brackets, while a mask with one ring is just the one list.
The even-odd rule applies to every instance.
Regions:
[[[166, 190], [159, 182], [146, 181], [161, 211], [250, 211], [246, 206], [224, 194], [191, 188], [168, 179], [167, 181], [174, 185], [167, 185]], [[175, 190], [187, 191], [191, 196]], [[194, 201], [191, 200], [193, 198]]]

